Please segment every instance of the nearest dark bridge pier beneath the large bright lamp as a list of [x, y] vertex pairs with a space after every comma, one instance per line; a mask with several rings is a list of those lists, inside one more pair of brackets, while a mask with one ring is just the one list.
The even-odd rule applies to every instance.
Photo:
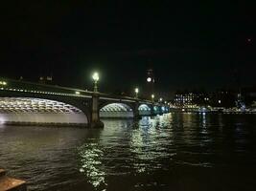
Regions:
[[91, 121], [90, 127], [92, 128], [103, 128], [104, 123], [100, 120], [100, 110], [99, 110], [99, 95], [94, 93], [92, 96], [92, 111], [91, 111]]

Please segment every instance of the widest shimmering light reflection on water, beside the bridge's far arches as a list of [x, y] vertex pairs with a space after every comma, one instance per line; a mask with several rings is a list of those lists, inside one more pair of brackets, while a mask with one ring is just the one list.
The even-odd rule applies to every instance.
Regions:
[[139, 128], [133, 129], [130, 140], [130, 151], [134, 159], [132, 165], [137, 174], [151, 173], [162, 169], [163, 159], [172, 159], [166, 145], [170, 144], [170, 129], [166, 128], [170, 117], [143, 117]]

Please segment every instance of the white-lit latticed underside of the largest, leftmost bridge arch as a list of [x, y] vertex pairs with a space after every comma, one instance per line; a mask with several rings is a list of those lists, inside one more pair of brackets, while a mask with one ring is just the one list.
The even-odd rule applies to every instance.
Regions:
[[80, 109], [62, 102], [31, 97], [0, 97], [0, 123], [85, 123]]

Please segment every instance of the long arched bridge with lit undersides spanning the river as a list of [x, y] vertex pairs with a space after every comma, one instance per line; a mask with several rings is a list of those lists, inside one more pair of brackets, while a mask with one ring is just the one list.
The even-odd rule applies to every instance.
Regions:
[[103, 127], [101, 118], [140, 118], [168, 105], [129, 96], [0, 78], [0, 123]]

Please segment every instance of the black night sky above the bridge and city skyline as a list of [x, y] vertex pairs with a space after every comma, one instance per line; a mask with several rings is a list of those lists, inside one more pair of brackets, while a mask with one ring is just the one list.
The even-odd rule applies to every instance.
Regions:
[[130, 90], [151, 65], [161, 92], [229, 87], [234, 76], [255, 85], [255, 10], [241, 2], [10, 2], [0, 74], [34, 81], [53, 74], [56, 84], [90, 88], [98, 70], [102, 90]]

